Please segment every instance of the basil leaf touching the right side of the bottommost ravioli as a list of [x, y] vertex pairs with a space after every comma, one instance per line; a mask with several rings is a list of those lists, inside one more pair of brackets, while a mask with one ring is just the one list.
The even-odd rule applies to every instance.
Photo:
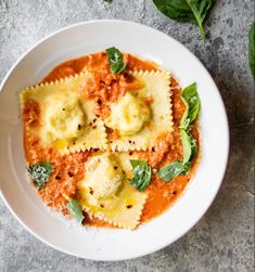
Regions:
[[132, 179], [131, 185], [135, 186], [138, 191], [144, 191], [151, 181], [152, 169], [144, 160], [131, 159], [130, 164], [132, 166]]

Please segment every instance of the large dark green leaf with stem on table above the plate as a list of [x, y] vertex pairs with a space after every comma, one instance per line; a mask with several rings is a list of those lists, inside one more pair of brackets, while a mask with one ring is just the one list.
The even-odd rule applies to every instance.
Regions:
[[196, 24], [203, 39], [203, 22], [214, 0], [153, 0], [156, 8], [169, 18]]

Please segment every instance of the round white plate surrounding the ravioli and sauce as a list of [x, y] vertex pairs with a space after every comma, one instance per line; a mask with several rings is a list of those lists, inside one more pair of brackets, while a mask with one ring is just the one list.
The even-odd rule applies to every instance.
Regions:
[[[65, 221], [49, 212], [26, 180], [18, 91], [40, 81], [61, 62], [112, 46], [157, 62], [173, 72], [183, 87], [197, 82], [202, 102], [202, 160], [177, 203], [136, 231], [67, 228]], [[26, 52], [9, 72], [0, 90], [2, 198], [30, 233], [61, 251], [93, 260], [122, 260], [151, 254], [188, 232], [218, 192], [229, 151], [221, 98], [200, 61], [179, 42], [155, 29], [123, 21], [86, 22], [64, 28]]]

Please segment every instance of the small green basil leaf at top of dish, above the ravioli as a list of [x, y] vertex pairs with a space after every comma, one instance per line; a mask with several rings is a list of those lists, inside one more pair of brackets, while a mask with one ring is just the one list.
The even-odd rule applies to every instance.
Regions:
[[116, 48], [106, 49], [110, 67], [113, 74], [119, 74], [126, 68], [126, 64], [123, 61], [123, 54]]

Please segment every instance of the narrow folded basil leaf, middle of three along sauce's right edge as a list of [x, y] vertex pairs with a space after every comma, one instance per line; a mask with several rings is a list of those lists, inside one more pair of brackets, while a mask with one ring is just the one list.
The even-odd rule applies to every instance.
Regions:
[[196, 140], [183, 129], [180, 129], [180, 135], [183, 147], [182, 164], [186, 165], [188, 161], [191, 161], [196, 155]]

